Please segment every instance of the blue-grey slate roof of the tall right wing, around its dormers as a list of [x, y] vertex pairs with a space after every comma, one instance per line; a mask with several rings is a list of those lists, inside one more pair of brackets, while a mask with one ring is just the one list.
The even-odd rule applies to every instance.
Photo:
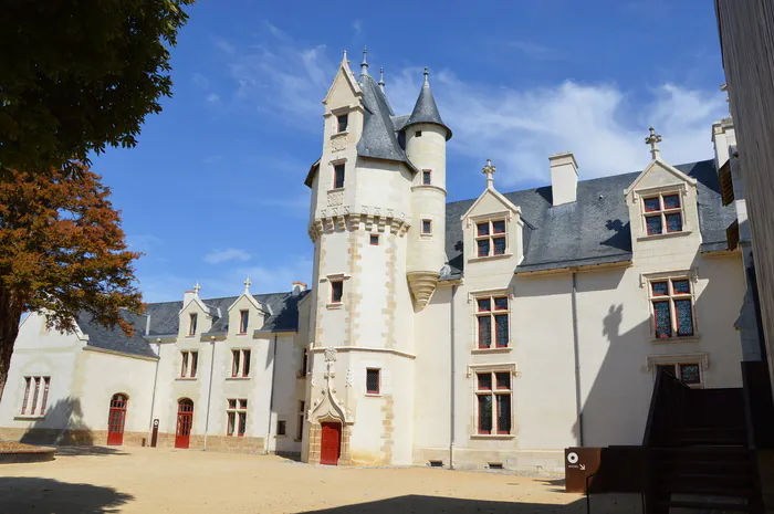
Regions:
[[[714, 160], [676, 166], [697, 179], [701, 251], [726, 248], [725, 229], [735, 220], [723, 207]], [[631, 229], [624, 190], [641, 171], [578, 181], [577, 201], [552, 207], [551, 186], [504, 193], [522, 210], [524, 260], [515, 272], [555, 270], [631, 259]], [[460, 217], [475, 199], [447, 203], [446, 251], [449, 268], [442, 279], [462, 275]]]

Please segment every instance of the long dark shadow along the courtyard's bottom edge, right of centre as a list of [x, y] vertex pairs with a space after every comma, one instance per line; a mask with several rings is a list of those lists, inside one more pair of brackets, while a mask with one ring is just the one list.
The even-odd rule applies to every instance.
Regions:
[[[635, 497], [636, 496], [636, 497]], [[603, 494], [592, 500], [592, 512], [605, 514], [640, 514], [639, 495]], [[529, 502], [490, 502], [441, 496], [408, 495], [341, 507], [305, 511], [328, 514], [580, 514], [586, 513], [585, 499], [566, 505]]]

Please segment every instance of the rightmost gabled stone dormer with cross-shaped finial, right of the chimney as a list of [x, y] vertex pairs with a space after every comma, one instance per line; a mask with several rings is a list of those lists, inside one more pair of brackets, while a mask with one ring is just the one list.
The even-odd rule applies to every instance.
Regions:
[[646, 143], [651, 146], [652, 160], [625, 191], [635, 253], [644, 245], [652, 246], [651, 241], [692, 238], [701, 242], [697, 180], [661, 159], [660, 141], [651, 127]]

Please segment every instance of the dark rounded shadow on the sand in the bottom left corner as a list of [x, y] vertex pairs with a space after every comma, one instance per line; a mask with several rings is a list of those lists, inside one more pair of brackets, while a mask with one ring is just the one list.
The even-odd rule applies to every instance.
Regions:
[[27, 476], [0, 479], [0, 514], [51, 512], [56, 514], [105, 514], [134, 500], [113, 487], [69, 484]]

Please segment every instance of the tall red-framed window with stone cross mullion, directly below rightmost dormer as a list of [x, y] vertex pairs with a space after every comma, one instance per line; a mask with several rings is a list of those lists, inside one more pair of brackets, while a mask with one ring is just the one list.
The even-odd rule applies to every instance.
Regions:
[[694, 334], [693, 293], [688, 277], [651, 281], [650, 302], [657, 339], [689, 337]]

